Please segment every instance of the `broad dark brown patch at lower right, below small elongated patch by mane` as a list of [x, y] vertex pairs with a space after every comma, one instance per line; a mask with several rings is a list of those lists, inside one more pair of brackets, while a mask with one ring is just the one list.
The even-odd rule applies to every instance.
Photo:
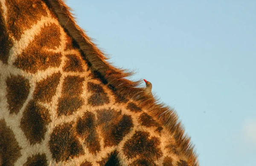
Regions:
[[163, 155], [159, 146], [160, 140], [157, 137], [149, 138], [148, 132], [136, 131], [122, 150], [129, 159], [140, 156], [154, 160]]

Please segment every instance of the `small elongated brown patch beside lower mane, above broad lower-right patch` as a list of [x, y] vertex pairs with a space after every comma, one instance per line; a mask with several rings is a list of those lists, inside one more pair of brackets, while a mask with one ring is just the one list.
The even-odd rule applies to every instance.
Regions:
[[161, 132], [163, 129], [162, 126], [160, 126], [159, 123], [157, 123], [151, 116], [149, 116], [147, 113], [143, 112], [140, 117], [139, 117], [139, 122], [141, 125], [146, 126], [146, 127], [151, 127], [151, 126], [156, 126], [157, 132]]

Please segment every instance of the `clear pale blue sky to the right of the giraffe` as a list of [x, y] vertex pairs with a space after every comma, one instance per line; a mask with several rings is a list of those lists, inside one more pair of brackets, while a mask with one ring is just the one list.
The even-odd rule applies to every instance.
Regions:
[[115, 66], [176, 109], [201, 166], [256, 166], [255, 0], [67, 4]]

